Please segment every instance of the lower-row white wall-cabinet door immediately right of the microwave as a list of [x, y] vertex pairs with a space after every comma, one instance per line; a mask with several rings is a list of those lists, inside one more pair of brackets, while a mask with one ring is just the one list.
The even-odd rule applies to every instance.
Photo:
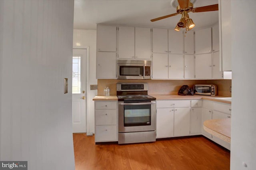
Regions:
[[152, 78], [168, 78], [168, 54], [153, 53], [152, 58]]

